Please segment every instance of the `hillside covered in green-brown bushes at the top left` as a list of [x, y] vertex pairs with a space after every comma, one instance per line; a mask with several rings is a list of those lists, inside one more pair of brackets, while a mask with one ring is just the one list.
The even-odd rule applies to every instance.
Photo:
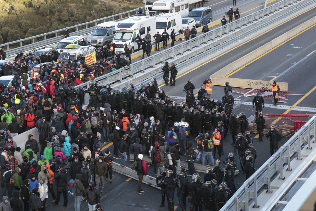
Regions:
[[[122, 3], [122, 4], [121, 4]], [[126, 5], [132, 6], [126, 6]], [[0, 0], [0, 43], [135, 9], [140, 1]]]

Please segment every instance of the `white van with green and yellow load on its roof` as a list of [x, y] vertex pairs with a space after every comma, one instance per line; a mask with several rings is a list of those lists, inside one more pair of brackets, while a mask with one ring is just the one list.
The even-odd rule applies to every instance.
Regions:
[[[59, 54], [59, 57], [57, 59], [57, 62], [61, 59], [71, 59], [71, 60], [76, 60], [79, 56], [86, 56], [90, 53], [95, 52], [95, 55], [97, 53], [97, 50], [93, 46], [70, 46], [71, 48], [69, 50], [63, 51], [62, 53]], [[73, 47], [73, 48], [72, 48]]]

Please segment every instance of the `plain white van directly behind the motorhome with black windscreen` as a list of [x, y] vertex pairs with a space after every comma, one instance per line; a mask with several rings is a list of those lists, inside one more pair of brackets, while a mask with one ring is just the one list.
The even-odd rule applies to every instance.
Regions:
[[174, 29], [174, 33], [182, 33], [182, 19], [179, 12], [177, 13], [163, 13], [161, 15], [156, 16], [156, 31], [159, 34], [167, 29], [167, 33], [170, 35], [172, 29]]

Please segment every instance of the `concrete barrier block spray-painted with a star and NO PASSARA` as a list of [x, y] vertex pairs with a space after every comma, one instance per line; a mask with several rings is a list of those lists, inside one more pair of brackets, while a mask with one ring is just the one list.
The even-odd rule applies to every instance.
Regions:
[[[225, 82], [228, 81], [229, 85], [232, 87], [243, 87], [243, 88], [262, 88], [264, 86], [269, 89], [272, 87], [272, 81], [263, 81], [256, 79], [243, 79], [243, 78], [225, 78], [225, 77], [214, 77], [210, 76], [213, 85], [225, 86]], [[288, 83], [285, 82], [276, 82], [279, 85], [280, 90], [288, 91]]]

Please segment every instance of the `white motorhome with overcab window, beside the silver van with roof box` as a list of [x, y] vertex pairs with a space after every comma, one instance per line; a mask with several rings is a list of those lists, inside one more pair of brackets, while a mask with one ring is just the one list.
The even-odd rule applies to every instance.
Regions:
[[154, 41], [154, 34], [156, 34], [156, 17], [139, 16], [130, 17], [119, 21], [115, 25], [115, 36], [113, 43], [115, 43], [115, 51], [125, 53], [124, 44], [131, 50], [132, 53], [138, 50], [137, 34], [143, 39], [147, 32], [151, 35], [151, 40]]

